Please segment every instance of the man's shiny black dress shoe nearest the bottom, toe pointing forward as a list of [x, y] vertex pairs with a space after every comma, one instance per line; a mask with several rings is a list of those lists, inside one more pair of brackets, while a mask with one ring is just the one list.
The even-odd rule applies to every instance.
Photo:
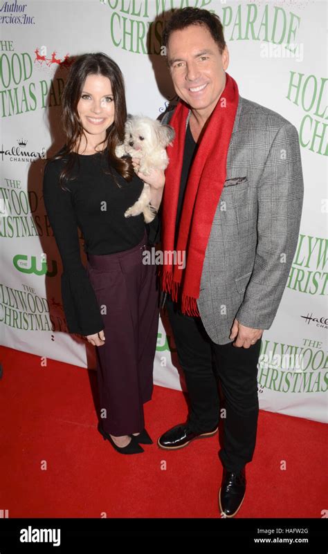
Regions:
[[224, 468], [222, 484], [219, 490], [219, 507], [224, 517], [234, 517], [242, 506], [246, 491], [245, 468], [240, 472], [227, 471]]

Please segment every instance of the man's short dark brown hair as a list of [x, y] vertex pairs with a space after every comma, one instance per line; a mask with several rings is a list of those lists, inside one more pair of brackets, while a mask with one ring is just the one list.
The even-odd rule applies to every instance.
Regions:
[[170, 19], [167, 20], [162, 35], [162, 45], [167, 46], [171, 33], [175, 30], [185, 29], [190, 25], [205, 26], [210, 31], [212, 39], [219, 46], [220, 54], [226, 47], [224, 40], [224, 28], [221, 19], [215, 13], [199, 8], [180, 8], [174, 10]]

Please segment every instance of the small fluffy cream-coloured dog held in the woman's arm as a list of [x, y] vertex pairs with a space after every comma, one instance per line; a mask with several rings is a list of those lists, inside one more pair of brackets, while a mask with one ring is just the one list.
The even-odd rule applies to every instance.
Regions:
[[[139, 171], [149, 175], [151, 169], [166, 169], [169, 158], [165, 147], [174, 139], [174, 129], [170, 125], [162, 125], [157, 120], [144, 116], [128, 116], [125, 123], [125, 139], [116, 147], [116, 156], [131, 156], [140, 158]], [[150, 187], [143, 185], [138, 200], [127, 209], [125, 217], [143, 213], [146, 223], [153, 221], [156, 210], [149, 205]]]

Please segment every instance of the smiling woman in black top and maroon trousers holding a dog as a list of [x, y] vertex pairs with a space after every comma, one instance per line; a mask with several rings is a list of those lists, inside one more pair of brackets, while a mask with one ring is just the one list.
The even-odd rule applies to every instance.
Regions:
[[143, 452], [140, 443], [152, 443], [143, 404], [154, 386], [158, 286], [156, 266], [143, 264], [143, 252], [156, 235], [158, 217], [146, 225], [143, 214], [124, 213], [140, 196], [143, 181], [158, 210], [164, 172], [137, 176], [136, 160], [115, 155], [127, 109], [122, 73], [107, 55], [75, 60], [62, 107], [66, 144], [46, 164], [43, 194], [62, 258], [64, 311], [69, 332], [97, 347], [98, 430], [118, 452], [135, 454]]

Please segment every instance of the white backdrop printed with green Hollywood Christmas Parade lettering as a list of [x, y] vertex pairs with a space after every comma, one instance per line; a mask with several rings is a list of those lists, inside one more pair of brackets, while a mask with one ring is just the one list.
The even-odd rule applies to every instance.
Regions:
[[[43, 158], [65, 141], [60, 99], [76, 55], [102, 51], [115, 59], [130, 113], [157, 118], [165, 111], [174, 91], [161, 55], [162, 14], [188, 5], [221, 17], [239, 93], [300, 133], [300, 237], [275, 322], [262, 338], [259, 400], [271, 412], [327, 421], [325, 1], [1, 1], [1, 344], [36, 354], [40, 367], [44, 358], [95, 367], [93, 348], [66, 329], [60, 255], [42, 199]], [[165, 320], [154, 382], [184, 388]]]

